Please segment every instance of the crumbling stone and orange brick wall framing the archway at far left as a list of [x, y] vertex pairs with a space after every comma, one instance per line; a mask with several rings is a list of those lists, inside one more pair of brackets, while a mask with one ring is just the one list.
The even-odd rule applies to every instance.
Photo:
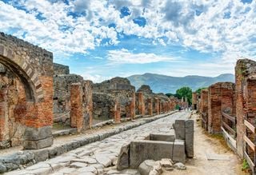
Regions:
[[[23, 123], [26, 125], [23, 134], [24, 148], [40, 149], [51, 145], [53, 54], [18, 38], [0, 33], [0, 63], [22, 82], [25, 90], [26, 104], [24, 102], [24, 108], [14, 112], [24, 117]], [[2, 106], [1, 108], [1, 111], [6, 112], [6, 109]], [[3, 115], [1, 117], [6, 118]], [[5, 125], [8, 125], [6, 124], [8, 120], [4, 121]]]

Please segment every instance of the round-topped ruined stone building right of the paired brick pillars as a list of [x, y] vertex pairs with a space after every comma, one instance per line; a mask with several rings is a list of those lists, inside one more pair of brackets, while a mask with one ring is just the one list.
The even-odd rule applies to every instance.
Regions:
[[[120, 117], [135, 117], [135, 88], [127, 78], [112, 78], [96, 83], [93, 92], [94, 118], [116, 118], [118, 121]], [[105, 101], [103, 98], [110, 103], [102, 102]]]

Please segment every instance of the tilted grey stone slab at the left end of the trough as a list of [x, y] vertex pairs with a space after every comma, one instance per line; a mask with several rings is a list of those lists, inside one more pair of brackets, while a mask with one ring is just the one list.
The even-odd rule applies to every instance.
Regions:
[[122, 145], [122, 148], [118, 155], [118, 163], [117, 163], [118, 170], [129, 168], [129, 151], [130, 151], [130, 143]]

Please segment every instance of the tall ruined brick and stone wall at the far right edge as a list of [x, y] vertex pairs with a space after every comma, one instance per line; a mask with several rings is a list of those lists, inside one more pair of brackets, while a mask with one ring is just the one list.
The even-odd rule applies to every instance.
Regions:
[[[237, 117], [237, 152], [243, 157], [246, 132], [244, 119], [255, 126], [256, 116], [256, 62], [250, 59], [239, 59], [235, 67], [236, 117]], [[249, 132], [250, 133], [250, 132]], [[250, 137], [250, 134], [249, 134]]]

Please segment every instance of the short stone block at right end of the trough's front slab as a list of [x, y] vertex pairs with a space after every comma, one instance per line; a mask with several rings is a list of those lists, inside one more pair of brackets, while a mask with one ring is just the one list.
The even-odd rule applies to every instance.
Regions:
[[174, 141], [174, 151], [172, 160], [174, 162], [182, 162], [185, 163], [186, 161], [186, 153], [185, 153], [185, 143], [184, 140], [176, 139]]

